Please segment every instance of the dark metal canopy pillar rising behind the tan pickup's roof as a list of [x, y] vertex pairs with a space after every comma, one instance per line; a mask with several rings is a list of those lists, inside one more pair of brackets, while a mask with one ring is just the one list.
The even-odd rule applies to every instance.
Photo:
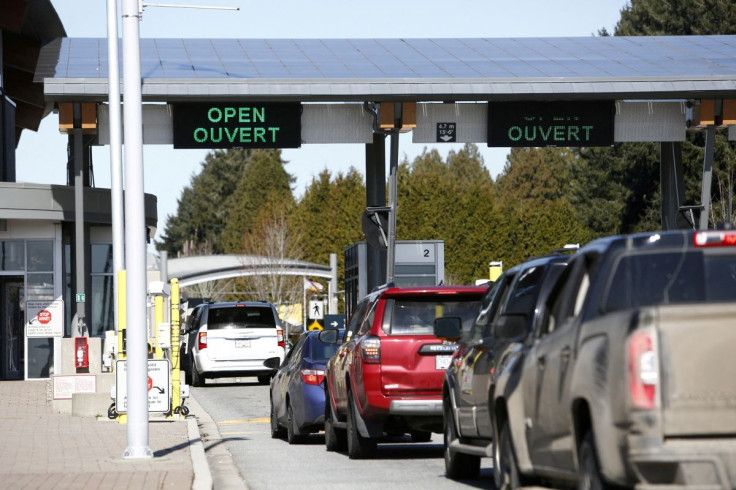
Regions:
[[686, 218], [680, 214], [685, 203], [685, 182], [682, 176], [682, 143], [660, 144], [660, 186], [662, 230], [690, 228]]

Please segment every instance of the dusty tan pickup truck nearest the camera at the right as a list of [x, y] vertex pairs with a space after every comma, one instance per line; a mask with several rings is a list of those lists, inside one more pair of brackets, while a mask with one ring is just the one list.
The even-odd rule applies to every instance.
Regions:
[[591, 242], [539, 314], [493, 394], [499, 488], [736, 488], [736, 230]]

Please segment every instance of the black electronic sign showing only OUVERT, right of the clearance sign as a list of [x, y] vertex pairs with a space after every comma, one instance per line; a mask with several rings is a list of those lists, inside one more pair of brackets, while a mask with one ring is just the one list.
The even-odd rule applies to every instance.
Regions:
[[614, 101], [490, 102], [488, 146], [611, 146]]

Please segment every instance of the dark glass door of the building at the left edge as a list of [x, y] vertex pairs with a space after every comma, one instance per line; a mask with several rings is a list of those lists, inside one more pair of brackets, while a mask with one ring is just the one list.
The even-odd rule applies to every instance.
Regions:
[[23, 276], [0, 276], [0, 379], [23, 379], [25, 355]]

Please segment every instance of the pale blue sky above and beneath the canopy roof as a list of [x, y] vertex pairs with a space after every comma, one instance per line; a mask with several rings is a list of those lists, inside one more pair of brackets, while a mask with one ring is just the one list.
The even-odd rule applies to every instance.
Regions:
[[[52, 0], [69, 37], [107, 37], [105, 0]], [[150, 5], [148, 5], [150, 3]], [[156, 5], [238, 7], [209, 10]], [[628, 0], [154, 0], [144, 2], [142, 38], [479, 38], [576, 37], [613, 31]], [[117, 17], [122, 14], [118, 1]], [[122, 28], [118, 22], [118, 34]], [[119, 55], [122, 59], [122, 53]], [[121, 72], [122, 77], [122, 72]], [[18, 182], [66, 184], [67, 137], [58, 131], [58, 117], [49, 114], [38, 132], [25, 130], [16, 152]], [[436, 148], [446, 157], [458, 144], [413, 144], [401, 136], [400, 160], [412, 161]], [[504, 167], [507, 148], [478, 144], [484, 164], [495, 178]], [[386, 142], [386, 151], [390, 145]], [[362, 144], [303, 145], [284, 150], [286, 170], [294, 177], [300, 197], [321, 171], [333, 175], [355, 167], [365, 174]], [[174, 150], [171, 145], [143, 149], [144, 189], [158, 199], [156, 240], [166, 217], [175, 215], [182, 190], [199, 173], [204, 150]], [[110, 187], [110, 147], [93, 148], [95, 187]], [[386, 164], [390, 161], [386, 156]]]

